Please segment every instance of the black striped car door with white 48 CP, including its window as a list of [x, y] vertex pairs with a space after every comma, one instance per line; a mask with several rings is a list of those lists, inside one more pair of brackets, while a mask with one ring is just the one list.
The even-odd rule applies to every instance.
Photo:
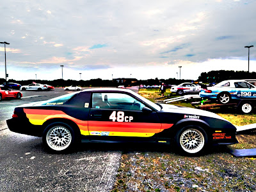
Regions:
[[[93, 92], [88, 130], [91, 140], [156, 140], [157, 112], [124, 92]], [[145, 108], [144, 108], [145, 109]]]

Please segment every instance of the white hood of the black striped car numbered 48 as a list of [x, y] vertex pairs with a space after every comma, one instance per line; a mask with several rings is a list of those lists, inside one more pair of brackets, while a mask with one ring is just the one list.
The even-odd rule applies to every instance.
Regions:
[[198, 116], [212, 117], [216, 119], [221, 119], [223, 121], [227, 121], [227, 119], [224, 119], [220, 115], [217, 115], [205, 110], [189, 108], [189, 107], [180, 107], [180, 106], [168, 105], [168, 104], [161, 104], [161, 106], [163, 107], [161, 110], [163, 112], [172, 112], [172, 113], [178, 113], [178, 114], [184, 114], [184, 115], [198, 115]]

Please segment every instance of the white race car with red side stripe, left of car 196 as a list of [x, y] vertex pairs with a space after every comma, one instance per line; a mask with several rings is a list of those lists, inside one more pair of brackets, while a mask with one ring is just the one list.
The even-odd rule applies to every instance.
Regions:
[[194, 85], [191, 83], [182, 83], [171, 88], [171, 92], [183, 95], [185, 93], [199, 93], [201, 91], [200, 85]]

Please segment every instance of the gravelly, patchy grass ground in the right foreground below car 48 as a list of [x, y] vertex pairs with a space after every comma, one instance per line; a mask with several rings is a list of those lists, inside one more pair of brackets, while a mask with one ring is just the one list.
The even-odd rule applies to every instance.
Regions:
[[123, 151], [113, 191], [256, 191], [255, 158], [235, 158], [225, 145], [200, 157], [150, 149]]

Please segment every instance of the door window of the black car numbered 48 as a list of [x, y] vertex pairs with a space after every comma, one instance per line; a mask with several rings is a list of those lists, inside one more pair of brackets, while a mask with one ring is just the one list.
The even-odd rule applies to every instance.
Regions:
[[92, 95], [92, 108], [111, 108], [116, 110], [142, 110], [143, 103], [124, 93], [95, 92]]

